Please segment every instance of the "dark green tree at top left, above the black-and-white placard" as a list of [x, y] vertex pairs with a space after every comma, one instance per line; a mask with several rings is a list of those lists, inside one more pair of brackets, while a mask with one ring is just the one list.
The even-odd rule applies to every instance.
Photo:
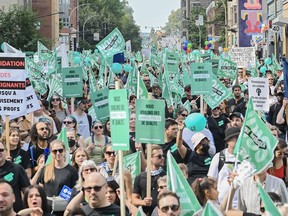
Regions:
[[13, 6], [7, 12], [0, 10], [0, 43], [7, 42], [22, 51], [36, 51], [37, 41], [49, 43], [41, 37], [37, 23], [37, 15], [30, 9]]

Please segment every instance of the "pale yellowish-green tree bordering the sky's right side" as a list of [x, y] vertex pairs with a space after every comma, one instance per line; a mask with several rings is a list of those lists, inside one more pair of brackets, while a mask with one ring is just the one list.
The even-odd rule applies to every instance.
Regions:
[[177, 9], [176, 11], [172, 11], [168, 17], [168, 22], [165, 24], [164, 30], [167, 35], [177, 34], [181, 31], [181, 9]]

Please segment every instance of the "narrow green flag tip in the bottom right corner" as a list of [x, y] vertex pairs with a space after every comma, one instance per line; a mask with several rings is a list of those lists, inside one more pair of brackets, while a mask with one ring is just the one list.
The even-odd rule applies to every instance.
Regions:
[[265, 207], [265, 215], [270, 215], [270, 216], [281, 216], [280, 212], [278, 211], [277, 207], [267, 194], [267, 192], [262, 188], [259, 182], [257, 182], [258, 190], [260, 193], [260, 197], [262, 200], [262, 203], [264, 204]]

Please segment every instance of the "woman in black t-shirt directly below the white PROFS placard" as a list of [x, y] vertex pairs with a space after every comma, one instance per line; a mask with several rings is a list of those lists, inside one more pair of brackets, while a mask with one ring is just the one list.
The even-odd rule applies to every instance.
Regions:
[[[17, 128], [10, 128], [8, 139], [10, 145], [10, 157], [7, 159], [22, 166], [25, 169], [28, 178], [31, 178], [32, 164], [27, 151], [21, 149], [20, 131]], [[5, 132], [3, 133], [2, 140], [6, 144]]]

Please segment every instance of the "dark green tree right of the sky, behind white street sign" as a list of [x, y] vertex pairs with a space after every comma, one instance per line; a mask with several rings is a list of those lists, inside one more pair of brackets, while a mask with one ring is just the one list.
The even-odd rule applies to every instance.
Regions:
[[[191, 13], [189, 19], [187, 20], [188, 31], [189, 31], [189, 42], [192, 43], [191, 50], [199, 49], [199, 36], [201, 36], [201, 47], [203, 48], [204, 41], [207, 40], [206, 26], [205, 23], [203, 26], [197, 26], [196, 20], [198, 20], [198, 16], [203, 15], [203, 20], [206, 20], [206, 8], [194, 6], [191, 9]], [[200, 34], [199, 34], [200, 29]]]

